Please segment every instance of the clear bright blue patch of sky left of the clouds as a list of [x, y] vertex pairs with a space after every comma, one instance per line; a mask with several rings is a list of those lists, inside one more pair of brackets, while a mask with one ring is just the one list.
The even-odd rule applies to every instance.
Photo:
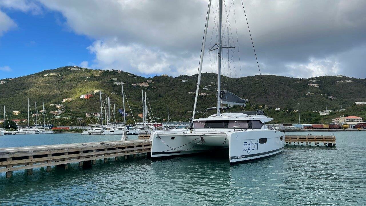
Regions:
[[[0, 78], [19, 77], [67, 65], [91, 61], [93, 54], [86, 49], [93, 40], [77, 35], [65, 27], [63, 16], [48, 11], [32, 15], [9, 11], [17, 27], [0, 37]], [[58, 23], [57, 23], [58, 22]]]

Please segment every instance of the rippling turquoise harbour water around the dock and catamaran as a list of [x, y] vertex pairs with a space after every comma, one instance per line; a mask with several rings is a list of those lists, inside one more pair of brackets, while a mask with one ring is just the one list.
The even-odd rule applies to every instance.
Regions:
[[[366, 205], [366, 132], [335, 135], [337, 147], [290, 146], [274, 157], [232, 166], [223, 151], [157, 161], [111, 159], [89, 169], [71, 164], [67, 171], [19, 171], [10, 179], [1, 173], [0, 205]], [[51, 136], [2, 136], [0, 146], [120, 138]]]

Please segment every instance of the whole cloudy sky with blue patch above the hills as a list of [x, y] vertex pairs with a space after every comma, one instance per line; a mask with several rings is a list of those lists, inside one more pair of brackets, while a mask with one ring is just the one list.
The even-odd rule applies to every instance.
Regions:
[[[217, 69], [217, 55], [207, 51], [218, 42], [217, 0], [212, 1], [203, 72]], [[231, 63], [223, 63], [222, 74], [257, 75], [241, 1], [224, 2], [223, 44], [235, 49], [232, 56], [223, 54]], [[145, 77], [193, 75], [207, 5], [208, 0], [0, 0], [0, 79], [69, 65]], [[246, 0], [244, 6], [262, 74], [366, 78], [365, 0]]]

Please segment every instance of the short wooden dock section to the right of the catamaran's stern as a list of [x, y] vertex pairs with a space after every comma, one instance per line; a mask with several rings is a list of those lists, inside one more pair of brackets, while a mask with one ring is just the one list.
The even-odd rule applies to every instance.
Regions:
[[299, 146], [336, 146], [336, 137], [323, 135], [285, 135], [285, 144]]

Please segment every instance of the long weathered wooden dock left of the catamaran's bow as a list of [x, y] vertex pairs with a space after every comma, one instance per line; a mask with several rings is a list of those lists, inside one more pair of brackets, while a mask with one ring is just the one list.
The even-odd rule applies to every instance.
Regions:
[[31, 147], [0, 148], [0, 172], [6, 172], [6, 177], [12, 176], [12, 171], [27, 170], [33, 173], [34, 168], [60, 165], [65, 169], [69, 163], [78, 162], [79, 166], [91, 166], [97, 159], [115, 158], [137, 154], [151, 154], [149, 140], [105, 141], [92, 143], [57, 144]]

